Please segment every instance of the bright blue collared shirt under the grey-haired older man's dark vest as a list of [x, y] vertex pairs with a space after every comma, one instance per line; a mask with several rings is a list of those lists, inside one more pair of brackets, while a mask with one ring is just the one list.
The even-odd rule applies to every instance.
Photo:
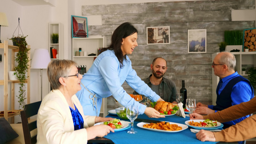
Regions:
[[[232, 80], [233, 78], [235, 78], [237, 76], [239, 76], [239, 74], [237, 72], [235, 72], [229, 76], [224, 77], [222, 79], [223, 83], [219, 86], [218, 93], [220, 94], [221, 91], [225, 88], [225, 86], [230, 82], [230, 80]], [[254, 97], [254, 92], [251, 90], [250, 85], [245, 81], [238, 82], [237, 84], [235, 84], [233, 86], [233, 89], [232, 89], [232, 93], [231, 93], [232, 106], [238, 105], [242, 102], [247, 102], [247, 101], [251, 100], [253, 97]], [[213, 109], [213, 105], [209, 105], [208, 108]], [[215, 110], [215, 112], [217, 112], [217, 110]], [[249, 117], [249, 115], [239, 118], [239, 119], [236, 119], [236, 120], [225, 122], [225, 123], [234, 125], [248, 117]]]

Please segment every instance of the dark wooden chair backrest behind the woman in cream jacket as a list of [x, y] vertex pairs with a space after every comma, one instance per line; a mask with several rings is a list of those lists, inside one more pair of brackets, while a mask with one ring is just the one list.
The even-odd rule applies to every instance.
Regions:
[[21, 111], [21, 120], [24, 133], [25, 144], [36, 144], [37, 134], [31, 137], [30, 132], [37, 129], [37, 120], [33, 122], [28, 122], [28, 118], [37, 115], [38, 109], [42, 101], [27, 104], [24, 110]]

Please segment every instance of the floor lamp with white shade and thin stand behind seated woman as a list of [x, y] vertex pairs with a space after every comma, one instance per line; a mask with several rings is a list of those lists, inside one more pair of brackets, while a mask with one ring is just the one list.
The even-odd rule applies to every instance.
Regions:
[[47, 69], [47, 66], [50, 62], [50, 55], [47, 49], [38, 48], [35, 49], [31, 69], [40, 69], [41, 70], [41, 100], [43, 99], [43, 75], [42, 70]]

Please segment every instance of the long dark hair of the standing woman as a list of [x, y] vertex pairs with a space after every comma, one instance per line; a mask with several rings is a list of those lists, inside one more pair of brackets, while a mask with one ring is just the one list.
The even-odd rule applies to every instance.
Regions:
[[115, 55], [117, 57], [117, 59], [120, 62], [120, 66], [122, 68], [123, 66], [123, 60], [126, 60], [126, 55], [123, 56], [122, 53], [122, 38], [125, 38], [127, 36], [131, 36], [134, 33], [138, 33], [137, 29], [131, 24], [131, 23], [123, 23], [121, 25], [119, 25], [115, 31], [113, 32], [113, 35], [111, 37], [111, 44], [108, 48], [102, 48], [100, 50], [100, 53], [102, 53], [103, 51], [106, 51], [108, 49], [110, 50], [114, 50]]

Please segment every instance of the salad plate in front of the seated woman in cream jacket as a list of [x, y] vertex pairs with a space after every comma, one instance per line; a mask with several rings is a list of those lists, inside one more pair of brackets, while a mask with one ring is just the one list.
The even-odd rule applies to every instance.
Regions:
[[98, 123], [95, 123], [94, 125], [100, 125], [100, 124], [109, 125], [111, 128], [114, 129], [115, 132], [123, 131], [131, 127], [128, 121], [119, 120], [119, 119], [114, 119], [114, 120], [105, 121], [105, 122], [98, 122]]

